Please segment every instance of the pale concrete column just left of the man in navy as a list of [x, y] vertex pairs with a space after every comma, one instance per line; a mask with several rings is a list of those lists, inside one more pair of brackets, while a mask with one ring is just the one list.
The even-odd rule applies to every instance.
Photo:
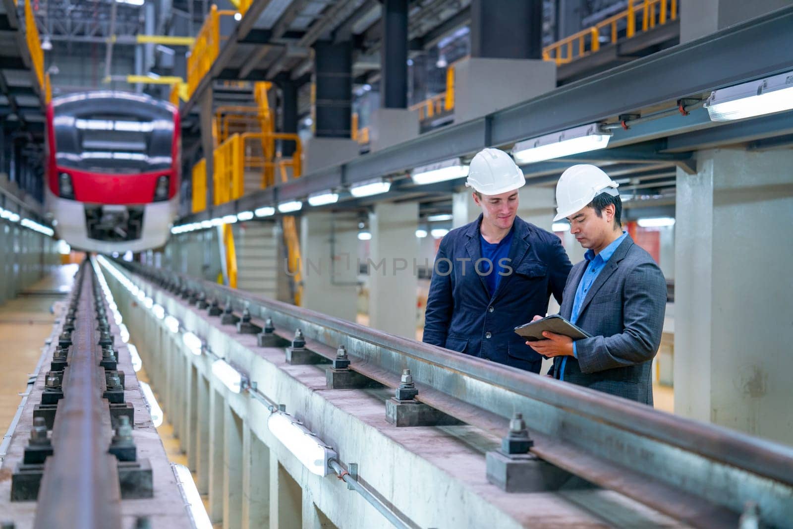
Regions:
[[416, 228], [419, 205], [381, 203], [370, 214], [370, 325], [416, 338]]

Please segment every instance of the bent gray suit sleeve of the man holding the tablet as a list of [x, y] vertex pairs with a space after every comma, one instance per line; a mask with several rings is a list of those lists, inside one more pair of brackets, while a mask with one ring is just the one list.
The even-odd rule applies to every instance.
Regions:
[[623, 286], [622, 333], [576, 341], [582, 373], [633, 366], [653, 359], [661, 345], [666, 312], [666, 281], [655, 263], [630, 270]]

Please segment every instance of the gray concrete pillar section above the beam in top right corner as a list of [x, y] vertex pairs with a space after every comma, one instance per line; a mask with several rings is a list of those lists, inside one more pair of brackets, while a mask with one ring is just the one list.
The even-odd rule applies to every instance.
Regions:
[[790, 0], [697, 0], [679, 2], [680, 44], [710, 35], [727, 26], [760, 17], [791, 5]]

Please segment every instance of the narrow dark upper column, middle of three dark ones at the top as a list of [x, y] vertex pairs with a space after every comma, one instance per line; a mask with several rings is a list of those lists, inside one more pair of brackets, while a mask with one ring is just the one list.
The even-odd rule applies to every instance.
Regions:
[[408, 107], [408, 0], [385, 0], [382, 17], [380, 102], [384, 109]]

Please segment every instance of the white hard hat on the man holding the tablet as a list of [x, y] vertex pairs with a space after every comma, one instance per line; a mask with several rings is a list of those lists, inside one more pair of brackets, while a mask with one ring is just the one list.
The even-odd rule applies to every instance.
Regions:
[[600, 167], [580, 164], [561, 174], [556, 185], [556, 217], [554, 222], [584, 209], [600, 193], [616, 197], [619, 184], [608, 178]]

